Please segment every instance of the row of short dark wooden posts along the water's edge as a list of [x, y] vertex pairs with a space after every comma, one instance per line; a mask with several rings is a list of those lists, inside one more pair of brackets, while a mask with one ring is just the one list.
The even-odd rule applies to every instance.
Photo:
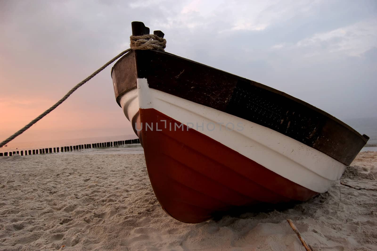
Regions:
[[[78, 151], [81, 149], [90, 149], [90, 148], [100, 148], [100, 147], [113, 147], [113, 146], [120, 146], [120, 145], [127, 145], [127, 144], [137, 144], [140, 143], [139, 139], [129, 139], [129, 140], [119, 140], [113, 142], [102, 142], [102, 143], [92, 143], [92, 144], [84, 144], [84, 145], [75, 145], [75, 146], [61, 146], [61, 147], [54, 147], [54, 148], [41, 148], [33, 149], [33, 150], [25, 150], [25, 155], [34, 155], [34, 154], [46, 154], [46, 153], [55, 153], [55, 152], [72, 152]], [[21, 156], [24, 155], [24, 151], [12, 151], [9, 152], [9, 156], [13, 154], [20, 154]], [[8, 152], [0, 152], [0, 157], [8, 156]]]

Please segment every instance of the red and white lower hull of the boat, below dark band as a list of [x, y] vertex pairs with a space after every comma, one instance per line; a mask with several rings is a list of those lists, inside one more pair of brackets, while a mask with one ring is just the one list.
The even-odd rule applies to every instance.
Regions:
[[159, 203], [182, 222], [234, 207], [308, 200], [346, 167], [272, 129], [149, 88], [146, 79], [120, 103], [143, 145]]

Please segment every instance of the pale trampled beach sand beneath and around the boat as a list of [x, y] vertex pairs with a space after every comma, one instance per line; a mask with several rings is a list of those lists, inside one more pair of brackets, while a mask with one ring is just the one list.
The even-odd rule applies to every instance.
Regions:
[[[377, 250], [377, 191], [334, 184], [308, 202], [199, 224], [167, 216], [143, 154], [0, 157], [0, 250]], [[342, 182], [377, 188], [377, 152]]]

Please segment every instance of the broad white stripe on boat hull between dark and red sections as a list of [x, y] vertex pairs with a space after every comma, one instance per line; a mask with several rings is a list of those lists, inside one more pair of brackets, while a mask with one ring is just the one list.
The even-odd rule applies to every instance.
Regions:
[[[129, 120], [132, 120], [139, 108], [156, 109], [280, 176], [316, 192], [326, 192], [334, 181], [340, 179], [346, 168], [343, 163], [280, 132], [149, 88], [146, 79], [138, 79], [137, 84], [137, 89], [127, 92], [120, 99]], [[203, 123], [204, 127], [197, 128], [196, 123], [199, 126]], [[227, 130], [227, 123], [232, 123], [234, 129]], [[206, 125], [210, 126], [207, 128]], [[241, 127], [242, 131], [238, 131]]]

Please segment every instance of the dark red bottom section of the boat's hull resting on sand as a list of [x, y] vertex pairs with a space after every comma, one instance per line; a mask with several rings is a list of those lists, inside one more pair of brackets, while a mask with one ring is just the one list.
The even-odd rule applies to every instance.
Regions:
[[138, 135], [156, 197], [177, 220], [198, 223], [234, 206], [305, 201], [317, 194], [194, 129], [174, 131], [180, 122], [155, 109], [140, 109], [136, 116], [135, 122], [153, 123], [153, 130]]

